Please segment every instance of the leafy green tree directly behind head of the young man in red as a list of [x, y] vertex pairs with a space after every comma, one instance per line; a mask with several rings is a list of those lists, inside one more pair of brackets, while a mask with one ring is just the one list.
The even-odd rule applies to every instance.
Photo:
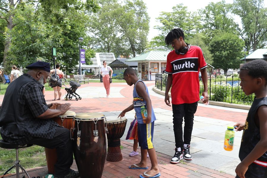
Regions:
[[185, 33], [185, 39], [190, 39], [201, 28], [200, 16], [196, 12], [188, 11], [183, 4], [172, 7], [171, 12], [161, 12], [157, 21], [161, 26], [154, 28], [159, 31], [159, 35], [152, 38], [152, 47], [166, 46], [165, 37], [174, 28], [181, 28]]

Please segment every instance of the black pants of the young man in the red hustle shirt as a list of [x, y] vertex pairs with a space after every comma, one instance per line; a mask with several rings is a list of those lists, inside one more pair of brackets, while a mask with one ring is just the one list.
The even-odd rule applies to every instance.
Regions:
[[[194, 114], [198, 107], [198, 102], [195, 103], [184, 103], [184, 104], [172, 104], [173, 112], [173, 131], [175, 137], [176, 148], [183, 148], [184, 144], [191, 142], [191, 134], [193, 130]], [[182, 123], [183, 118], [185, 120], [184, 126], [184, 141], [183, 141], [183, 129]]]

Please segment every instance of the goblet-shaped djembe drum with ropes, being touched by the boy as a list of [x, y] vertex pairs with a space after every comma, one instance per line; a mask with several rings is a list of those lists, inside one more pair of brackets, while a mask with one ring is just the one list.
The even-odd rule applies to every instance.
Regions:
[[117, 116], [107, 116], [107, 139], [108, 153], [107, 161], [116, 162], [123, 159], [120, 150], [120, 138], [123, 136], [127, 119], [125, 117], [117, 118]]

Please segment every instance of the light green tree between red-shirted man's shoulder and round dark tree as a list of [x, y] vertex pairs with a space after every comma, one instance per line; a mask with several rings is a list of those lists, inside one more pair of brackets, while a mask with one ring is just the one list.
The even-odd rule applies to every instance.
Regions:
[[210, 65], [213, 64], [213, 57], [209, 51], [209, 47], [204, 42], [204, 35], [203, 34], [199, 34], [199, 33], [195, 34], [193, 36], [193, 38], [191, 38], [188, 41], [188, 43], [191, 45], [196, 45], [196, 46], [201, 47], [203, 54], [204, 54], [204, 57], [205, 57], [205, 61], [207, 63], [209, 63]]

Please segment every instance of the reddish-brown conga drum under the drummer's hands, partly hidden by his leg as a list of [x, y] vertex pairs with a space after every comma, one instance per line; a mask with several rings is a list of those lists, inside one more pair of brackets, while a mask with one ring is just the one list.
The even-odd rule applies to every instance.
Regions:
[[[54, 117], [53, 120], [69, 130], [74, 127], [74, 116], [76, 115], [73, 111], [67, 111], [63, 115], [59, 115], [58, 117]], [[45, 156], [47, 162], [48, 173], [54, 174], [55, 169], [54, 165], [57, 162], [57, 152], [56, 149], [45, 148]]]

